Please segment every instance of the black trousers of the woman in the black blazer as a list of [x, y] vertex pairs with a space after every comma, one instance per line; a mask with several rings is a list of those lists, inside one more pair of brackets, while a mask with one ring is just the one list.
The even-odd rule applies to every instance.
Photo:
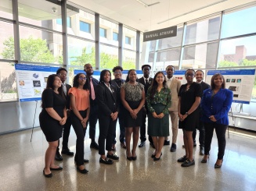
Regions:
[[105, 140], [106, 150], [112, 149], [113, 134], [116, 129], [117, 119], [113, 121], [110, 116], [99, 115], [99, 154], [105, 154]]

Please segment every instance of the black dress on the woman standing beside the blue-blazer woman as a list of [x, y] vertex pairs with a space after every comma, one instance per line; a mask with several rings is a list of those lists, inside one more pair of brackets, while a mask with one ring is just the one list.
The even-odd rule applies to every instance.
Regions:
[[[179, 91], [178, 97], [181, 97], [180, 113], [185, 115], [187, 111], [192, 107], [196, 100], [196, 97], [202, 97], [202, 89], [199, 83], [193, 82], [189, 90], [186, 90], [186, 84], [183, 84]], [[198, 121], [200, 120], [200, 108], [198, 107], [195, 111], [189, 114], [184, 121], [178, 121], [178, 128], [185, 129], [186, 131], [194, 131], [197, 127]]]

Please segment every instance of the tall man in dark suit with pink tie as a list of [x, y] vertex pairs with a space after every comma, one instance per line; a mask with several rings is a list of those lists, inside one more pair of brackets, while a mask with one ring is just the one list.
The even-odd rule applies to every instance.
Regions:
[[96, 102], [96, 86], [98, 86], [99, 81], [92, 77], [93, 69], [92, 65], [87, 63], [84, 65], [84, 71], [87, 76], [87, 80], [89, 83], [89, 90], [90, 90], [90, 116], [89, 116], [89, 137], [91, 139], [90, 147], [96, 150], [99, 150], [99, 145], [95, 141], [96, 137], [96, 124], [98, 120], [98, 104]]

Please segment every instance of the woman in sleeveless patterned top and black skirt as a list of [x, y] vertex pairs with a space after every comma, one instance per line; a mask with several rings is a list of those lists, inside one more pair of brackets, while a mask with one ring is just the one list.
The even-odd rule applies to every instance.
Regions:
[[[142, 107], [145, 104], [145, 91], [141, 83], [136, 82], [135, 69], [128, 71], [126, 83], [121, 87], [121, 101], [124, 105], [124, 127], [126, 154], [129, 161], [137, 159], [136, 147], [139, 140], [139, 126], [142, 126]], [[133, 134], [133, 137], [132, 137]], [[130, 142], [133, 138], [132, 153]]]

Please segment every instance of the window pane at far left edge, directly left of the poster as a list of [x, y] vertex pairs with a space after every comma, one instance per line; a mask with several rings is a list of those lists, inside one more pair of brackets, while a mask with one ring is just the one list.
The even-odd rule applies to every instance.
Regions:
[[16, 87], [14, 63], [0, 62], [0, 101], [16, 99]]

